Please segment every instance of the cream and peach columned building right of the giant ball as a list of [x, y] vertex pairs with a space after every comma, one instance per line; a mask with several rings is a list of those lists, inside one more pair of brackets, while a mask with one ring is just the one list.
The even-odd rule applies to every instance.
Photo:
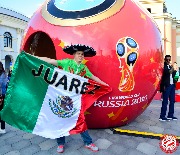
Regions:
[[180, 66], [180, 20], [168, 12], [165, 0], [139, 0], [155, 19], [162, 35], [163, 54], [171, 55]]

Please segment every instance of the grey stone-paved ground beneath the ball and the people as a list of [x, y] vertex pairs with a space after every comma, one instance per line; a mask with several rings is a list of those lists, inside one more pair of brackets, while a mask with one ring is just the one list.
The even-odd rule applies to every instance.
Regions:
[[[180, 136], [180, 120], [160, 122], [161, 101], [153, 100], [145, 112], [121, 129], [173, 134]], [[175, 103], [175, 116], [180, 117], [180, 102]], [[0, 155], [57, 155], [56, 140], [46, 139], [6, 125], [6, 134], [0, 134]], [[159, 140], [113, 134], [110, 129], [89, 130], [99, 152], [92, 152], [83, 146], [80, 135], [66, 138], [63, 155], [165, 155]], [[180, 147], [179, 147], [180, 148]], [[179, 155], [180, 149], [173, 155]]]

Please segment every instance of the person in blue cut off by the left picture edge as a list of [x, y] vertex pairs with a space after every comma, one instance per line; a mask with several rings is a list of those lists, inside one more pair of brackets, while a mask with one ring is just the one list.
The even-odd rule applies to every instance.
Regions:
[[[2, 62], [0, 62], [0, 110], [2, 110], [4, 105], [4, 98], [6, 94], [6, 88], [7, 88], [7, 74], [4, 70]], [[1, 129], [0, 133], [6, 133], [5, 130], [5, 122], [0, 119], [1, 122]]]

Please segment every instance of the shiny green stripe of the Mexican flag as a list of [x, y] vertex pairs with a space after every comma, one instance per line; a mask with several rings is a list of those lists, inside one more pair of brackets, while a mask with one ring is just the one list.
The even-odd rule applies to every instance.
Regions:
[[[37, 73], [42, 64], [44, 67], [41, 76], [35, 77], [32, 70]], [[1, 117], [5, 122], [21, 130], [32, 132], [48, 88], [48, 83], [42, 80], [47, 68], [51, 68], [48, 76], [50, 80], [54, 66], [25, 52], [19, 54], [6, 93], [4, 108], [1, 111]]]

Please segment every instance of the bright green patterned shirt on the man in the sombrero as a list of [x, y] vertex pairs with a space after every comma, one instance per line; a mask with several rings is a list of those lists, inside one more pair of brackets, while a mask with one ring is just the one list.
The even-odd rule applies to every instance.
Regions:
[[88, 78], [92, 77], [92, 73], [89, 71], [86, 65], [84, 64], [77, 64], [73, 59], [63, 59], [57, 60], [58, 67], [62, 67], [63, 70], [77, 74], [79, 76], [86, 76]]

